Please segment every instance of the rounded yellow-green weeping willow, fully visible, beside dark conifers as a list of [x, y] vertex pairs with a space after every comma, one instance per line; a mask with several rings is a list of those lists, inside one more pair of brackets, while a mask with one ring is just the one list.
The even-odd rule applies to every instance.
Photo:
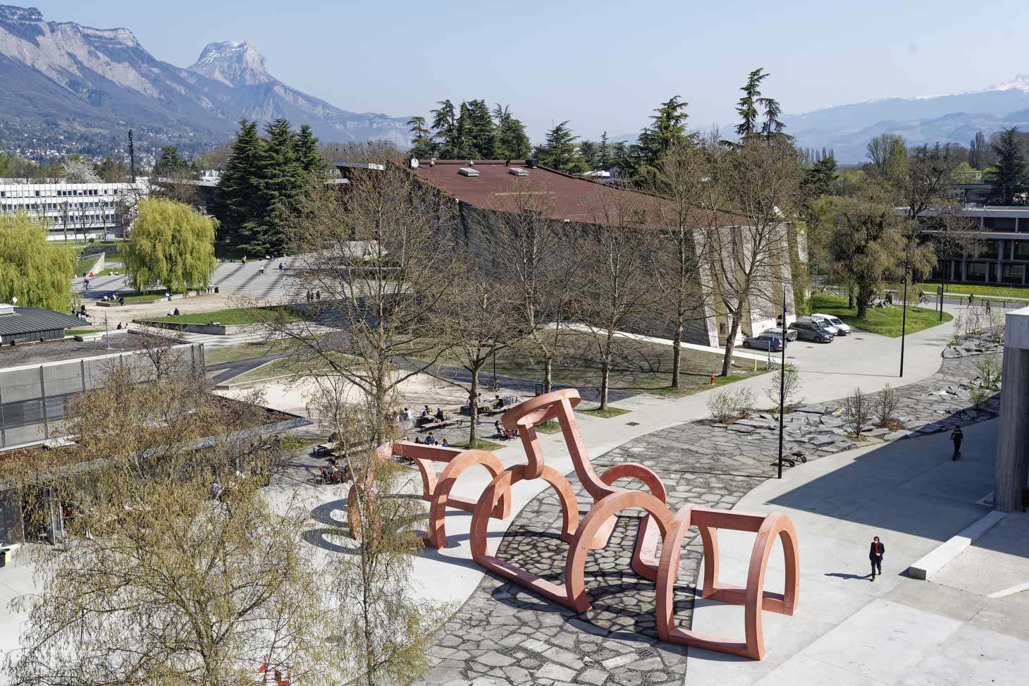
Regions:
[[143, 200], [123, 251], [126, 272], [137, 290], [161, 282], [171, 290], [204, 288], [217, 261], [217, 220], [166, 198]]

